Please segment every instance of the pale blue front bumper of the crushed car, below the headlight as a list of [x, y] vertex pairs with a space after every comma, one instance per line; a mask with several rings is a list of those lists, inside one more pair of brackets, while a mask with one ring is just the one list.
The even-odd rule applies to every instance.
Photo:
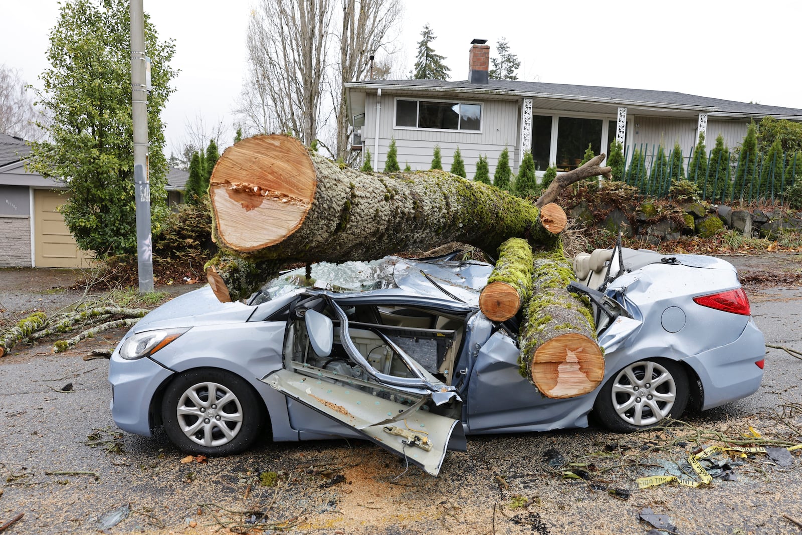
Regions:
[[135, 435], [151, 436], [150, 404], [156, 390], [173, 372], [147, 357], [137, 360], [111, 355], [111, 417], [117, 427]]

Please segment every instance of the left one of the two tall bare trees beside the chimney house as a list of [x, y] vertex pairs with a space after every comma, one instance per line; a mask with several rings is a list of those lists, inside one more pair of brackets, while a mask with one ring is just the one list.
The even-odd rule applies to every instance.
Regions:
[[248, 25], [256, 109], [304, 144], [318, 136], [330, 22], [331, 0], [260, 0]]

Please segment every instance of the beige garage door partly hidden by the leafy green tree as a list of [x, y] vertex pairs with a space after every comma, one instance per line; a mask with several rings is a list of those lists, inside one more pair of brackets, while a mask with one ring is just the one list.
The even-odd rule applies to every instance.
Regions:
[[78, 249], [59, 205], [67, 200], [47, 189], [34, 190], [34, 250], [36, 267], [87, 267], [89, 256]]

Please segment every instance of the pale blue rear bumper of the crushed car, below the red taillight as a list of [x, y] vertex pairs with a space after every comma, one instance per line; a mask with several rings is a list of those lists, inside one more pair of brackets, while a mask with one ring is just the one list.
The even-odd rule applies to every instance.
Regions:
[[702, 410], [754, 394], [763, 379], [763, 369], [755, 363], [765, 353], [763, 333], [750, 319], [735, 342], [683, 359], [702, 381]]

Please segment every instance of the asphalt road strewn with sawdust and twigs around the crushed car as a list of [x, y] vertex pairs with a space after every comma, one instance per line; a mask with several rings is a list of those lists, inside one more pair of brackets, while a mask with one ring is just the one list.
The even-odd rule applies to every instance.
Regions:
[[[767, 343], [802, 350], [802, 288], [750, 298]], [[0, 359], [0, 525], [24, 514], [4, 535], [217, 533], [221, 525], [251, 533], [646, 533], [650, 526], [638, 520], [645, 507], [683, 535], [800, 533], [798, 452], [788, 467], [736, 456], [743, 461], [733, 468], [736, 480], [703, 488], [635, 482], [678, 473], [694, 434], [706, 443], [712, 432], [738, 436], [751, 425], [764, 438], [799, 436], [802, 363], [785, 351], [768, 350], [757, 394], [688, 415], [687, 426], [634, 436], [589, 428], [472, 438], [468, 452], [449, 453], [432, 478], [405, 472], [403, 461], [371, 444], [344, 440], [265, 440], [239, 456], [184, 463], [163, 433], [132, 436], [111, 420], [108, 361], [83, 357], [122, 334], [59, 355], [40, 345]], [[71, 390], [59, 391], [67, 383]], [[565, 478], [569, 470], [589, 480]], [[276, 486], [260, 484], [266, 472], [276, 472]]]

